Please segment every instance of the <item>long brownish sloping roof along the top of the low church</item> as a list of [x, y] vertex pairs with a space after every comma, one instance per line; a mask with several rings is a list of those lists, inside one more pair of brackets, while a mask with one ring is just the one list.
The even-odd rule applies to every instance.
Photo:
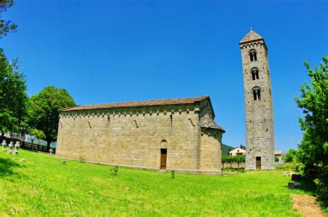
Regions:
[[60, 111], [79, 111], [79, 110], [93, 110], [93, 109], [116, 109], [116, 108], [129, 108], [129, 107], [140, 107], [140, 106], [167, 106], [167, 105], [178, 105], [178, 104], [194, 104], [195, 102], [201, 102], [206, 98], [210, 98], [207, 95], [201, 97], [190, 97], [190, 98], [176, 98], [166, 100], [145, 100], [145, 101], [134, 101], [134, 102], [117, 102], [110, 104], [91, 104], [84, 106], [73, 106]]

